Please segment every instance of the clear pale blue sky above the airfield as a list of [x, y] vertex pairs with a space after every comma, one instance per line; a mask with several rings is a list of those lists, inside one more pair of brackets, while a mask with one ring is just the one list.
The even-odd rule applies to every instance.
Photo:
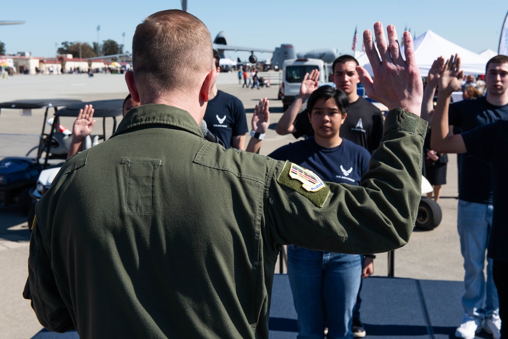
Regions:
[[[146, 16], [165, 9], [181, 9], [180, 0], [23, 2], [3, 1], [0, 20], [24, 20], [23, 25], [0, 25], [0, 41], [8, 53], [32, 52], [53, 56], [55, 44], [97, 42], [112, 39], [131, 51], [136, 25]], [[212, 39], [224, 30], [230, 43], [273, 49], [291, 43], [297, 52], [317, 48], [337, 48], [350, 53], [355, 26], [357, 50], [362, 48], [362, 32], [375, 21], [394, 24], [402, 35], [404, 27], [420, 35], [431, 29], [438, 35], [474, 52], [497, 51], [500, 29], [508, 11], [506, 0], [428, 0], [309, 2], [304, 0], [188, 0], [188, 10], [203, 21]], [[256, 53], [259, 59], [267, 53]], [[246, 59], [249, 53], [233, 53]]]

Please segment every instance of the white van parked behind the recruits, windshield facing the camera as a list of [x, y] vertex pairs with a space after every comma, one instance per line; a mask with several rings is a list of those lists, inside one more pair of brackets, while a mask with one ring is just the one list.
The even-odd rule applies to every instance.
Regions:
[[281, 88], [284, 111], [300, 93], [305, 73], [310, 73], [312, 70], [319, 70], [320, 84], [330, 81], [331, 65], [325, 64], [323, 60], [306, 58], [284, 60]]

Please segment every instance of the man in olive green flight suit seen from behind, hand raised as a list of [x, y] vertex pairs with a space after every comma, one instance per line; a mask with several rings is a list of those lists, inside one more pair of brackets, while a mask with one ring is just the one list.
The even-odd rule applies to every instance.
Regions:
[[368, 30], [364, 42], [375, 82], [357, 71], [392, 111], [361, 186], [348, 186], [206, 141], [210, 32], [178, 10], [139, 24], [126, 82], [142, 106], [70, 158], [36, 207], [23, 294], [41, 324], [81, 338], [268, 337], [283, 244], [356, 254], [403, 246], [421, 196], [422, 81], [409, 33], [404, 61], [395, 27], [390, 44], [374, 28], [382, 61]]

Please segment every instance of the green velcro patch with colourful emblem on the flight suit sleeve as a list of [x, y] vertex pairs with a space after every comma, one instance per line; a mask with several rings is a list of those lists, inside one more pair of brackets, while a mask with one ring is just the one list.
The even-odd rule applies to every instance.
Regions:
[[[305, 181], [307, 181], [305, 178], [301, 179], [298, 177], [307, 177], [309, 181], [315, 182], [315, 184], [313, 187], [309, 187], [309, 185], [305, 183]], [[286, 161], [284, 164], [284, 168], [279, 174], [277, 182], [305, 196], [319, 208], [324, 206], [326, 199], [328, 199], [328, 195], [330, 195], [330, 187], [326, 186], [317, 175], [289, 161]], [[307, 189], [304, 187], [307, 187]]]

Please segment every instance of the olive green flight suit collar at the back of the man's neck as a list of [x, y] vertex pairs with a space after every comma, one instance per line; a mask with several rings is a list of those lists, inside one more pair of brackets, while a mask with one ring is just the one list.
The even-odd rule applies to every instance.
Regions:
[[132, 108], [122, 119], [113, 136], [133, 128], [148, 125], [165, 125], [203, 136], [200, 127], [189, 112], [163, 104], [147, 104]]

